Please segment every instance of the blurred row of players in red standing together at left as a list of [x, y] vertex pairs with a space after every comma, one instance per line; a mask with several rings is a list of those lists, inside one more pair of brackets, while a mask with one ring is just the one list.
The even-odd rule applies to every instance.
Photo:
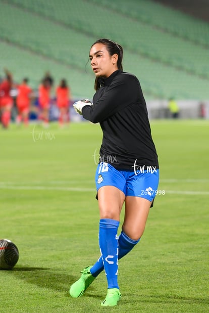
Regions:
[[60, 127], [70, 121], [71, 91], [66, 79], [54, 86], [54, 78], [46, 72], [37, 90], [30, 87], [29, 79], [20, 83], [13, 80], [12, 73], [5, 69], [5, 78], [0, 81], [0, 118], [3, 128], [11, 121], [28, 126], [29, 121], [41, 122], [48, 127], [49, 121], [58, 120]]

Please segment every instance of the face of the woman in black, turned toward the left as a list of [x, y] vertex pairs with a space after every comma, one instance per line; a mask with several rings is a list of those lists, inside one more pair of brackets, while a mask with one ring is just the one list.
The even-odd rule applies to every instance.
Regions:
[[118, 69], [118, 55], [110, 56], [105, 44], [95, 43], [90, 50], [89, 60], [91, 68], [98, 77], [109, 77]]

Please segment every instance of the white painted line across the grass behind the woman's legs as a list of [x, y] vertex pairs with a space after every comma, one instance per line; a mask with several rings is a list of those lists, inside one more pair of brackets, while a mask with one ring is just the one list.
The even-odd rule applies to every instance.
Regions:
[[[7, 185], [0, 185], [0, 189], [10, 189], [10, 190], [57, 190], [57, 191], [77, 191], [77, 192], [95, 192], [96, 191], [96, 189], [94, 189], [94, 188], [46, 187], [46, 186], [7, 186]], [[166, 194], [208, 196], [209, 195], [209, 191], [165, 190], [165, 195]]]

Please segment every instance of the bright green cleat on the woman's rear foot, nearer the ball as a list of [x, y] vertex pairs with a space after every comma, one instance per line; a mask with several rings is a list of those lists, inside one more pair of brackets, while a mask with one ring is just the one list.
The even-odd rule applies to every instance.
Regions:
[[73, 285], [71, 285], [69, 290], [71, 297], [81, 297], [88, 286], [94, 281], [95, 277], [93, 277], [90, 273], [91, 267], [92, 266], [85, 267], [85, 269], [81, 271], [81, 277]]

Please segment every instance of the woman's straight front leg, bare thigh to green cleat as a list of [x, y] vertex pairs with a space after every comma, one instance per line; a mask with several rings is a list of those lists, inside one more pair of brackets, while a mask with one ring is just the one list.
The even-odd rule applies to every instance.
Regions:
[[108, 293], [101, 306], [114, 306], [121, 297], [118, 286], [118, 227], [124, 200], [124, 193], [116, 187], [103, 186], [98, 190], [99, 248], [108, 282]]

